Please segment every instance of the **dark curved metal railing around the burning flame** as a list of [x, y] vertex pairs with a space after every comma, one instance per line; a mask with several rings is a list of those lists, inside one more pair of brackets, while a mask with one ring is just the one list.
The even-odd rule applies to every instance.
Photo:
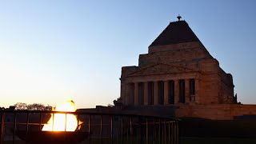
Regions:
[[[54, 114], [74, 114], [82, 124], [78, 123], [78, 128], [74, 132], [42, 131], [42, 126], [51, 115], [54, 118]], [[59, 140], [60, 135], [64, 139], [62, 143], [180, 143], [179, 120], [176, 118], [39, 110], [1, 110], [0, 116], [0, 144], [25, 144], [37, 141], [37, 144], [50, 143], [47, 139], [53, 140], [54, 137], [58, 137]], [[50, 135], [47, 135], [48, 133]], [[78, 138], [80, 140], [76, 140]], [[71, 140], [76, 142], [70, 142]]]

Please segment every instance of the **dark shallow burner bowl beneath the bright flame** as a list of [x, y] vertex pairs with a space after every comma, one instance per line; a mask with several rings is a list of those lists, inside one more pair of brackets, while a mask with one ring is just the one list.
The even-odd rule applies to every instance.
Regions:
[[86, 132], [36, 131], [26, 133], [26, 131], [18, 131], [17, 133], [19, 138], [29, 144], [74, 144], [88, 138]]

